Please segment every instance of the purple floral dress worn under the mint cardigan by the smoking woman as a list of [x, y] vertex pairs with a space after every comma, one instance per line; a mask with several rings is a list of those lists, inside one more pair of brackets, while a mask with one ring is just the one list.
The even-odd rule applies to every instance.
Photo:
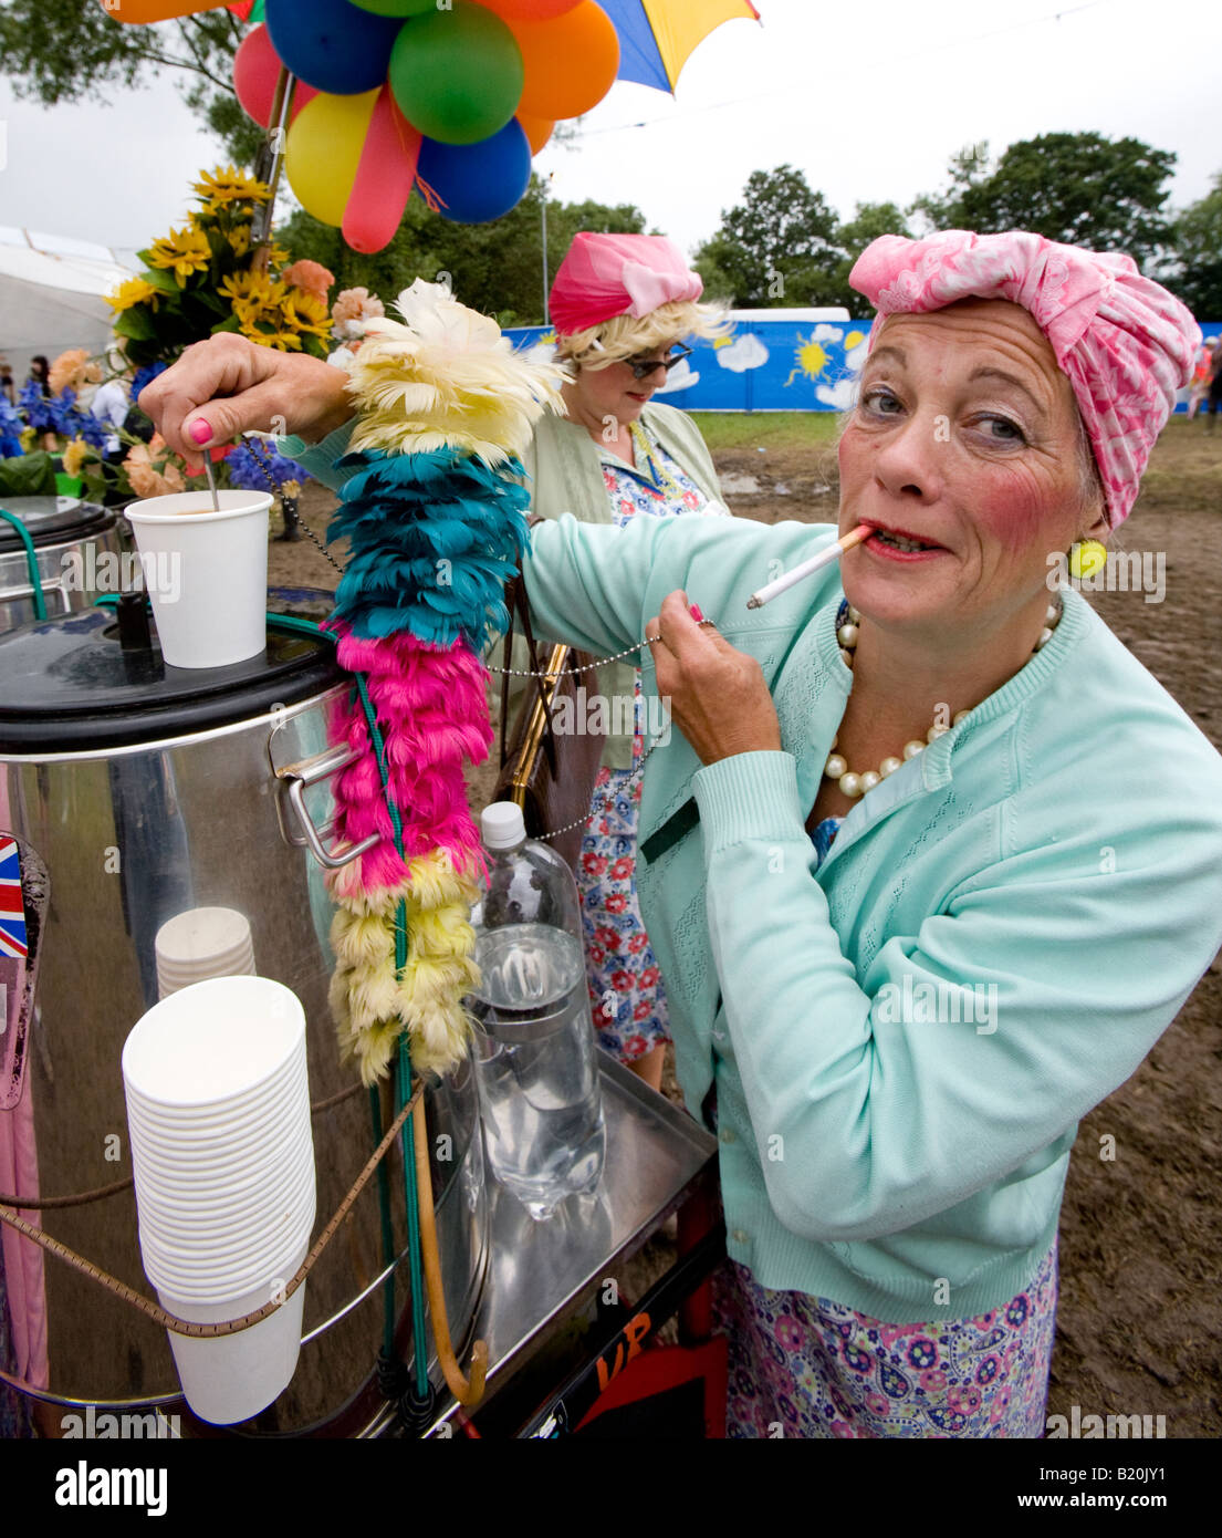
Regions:
[[[841, 818], [813, 831], [818, 864]], [[716, 1100], [709, 1101], [716, 1126]], [[1038, 1438], [1056, 1327], [1056, 1241], [1004, 1307], [970, 1320], [885, 1324], [829, 1298], [761, 1287], [727, 1260], [713, 1275], [729, 1337], [726, 1435]]]

